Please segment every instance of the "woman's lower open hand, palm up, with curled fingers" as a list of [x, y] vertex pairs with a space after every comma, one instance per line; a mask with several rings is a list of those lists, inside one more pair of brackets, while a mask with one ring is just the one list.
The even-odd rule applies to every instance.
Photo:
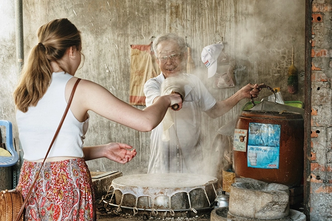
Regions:
[[104, 156], [110, 160], [118, 163], [128, 163], [137, 154], [136, 150], [132, 149], [132, 146], [122, 143], [109, 143], [105, 147]]

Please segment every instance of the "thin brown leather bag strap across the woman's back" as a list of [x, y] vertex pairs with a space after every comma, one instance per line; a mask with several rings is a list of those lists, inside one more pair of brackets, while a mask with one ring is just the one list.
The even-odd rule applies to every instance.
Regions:
[[43, 162], [42, 162], [42, 164], [41, 164], [41, 166], [40, 166], [40, 168], [39, 168], [39, 170], [38, 170], [38, 172], [37, 172], [37, 174], [36, 174], [36, 177], [35, 177], [35, 179], [34, 179], [34, 181], [33, 181], [33, 183], [32, 183], [32, 186], [31, 186], [30, 189], [29, 189], [28, 195], [26, 196], [26, 198], [25, 198], [25, 200], [24, 200], [24, 202], [23, 202], [23, 204], [22, 204], [22, 206], [21, 206], [21, 209], [20, 209], [20, 211], [19, 211], [19, 214], [18, 214], [18, 216], [16, 217], [16, 221], [19, 221], [20, 216], [21, 216], [22, 213], [23, 213], [24, 207], [25, 207], [25, 205], [26, 205], [27, 202], [28, 202], [29, 196], [31, 195], [32, 189], [33, 189], [33, 187], [35, 186], [35, 183], [36, 183], [36, 181], [37, 181], [37, 179], [38, 179], [38, 176], [39, 176], [39, 173], [40, 173], [40, 171], [41, 171], [41, 169], [42, 169], [42, 167], [43, 167], [43, 165], [44, 165], [44, 163], [45, 163], [45, 160], [46, 160], [46, 158], [47, 158], [47, 156], [48, 156], [48, 153], [50, 152], [51, 147], [52, 147], [52, 145], [53, 145], [53, 143], [54, 143], [54, 141], [55, 141], [55, 139], [56, 139], [56, 137], [57, 137], [57, 135], [58, 135], [58, 133], [59, 133], [61, 127], [62, 127], [62, 124], [63, 124], [63, 122], [64, 122], [64, 119], [65, 119], [66, 116], [67, 116], [67, 113], [68, 113], [68, 110], [69, 110], [69, 107], [70, 107], [70, 104], [71, 104], [72, 98], [73, 98], [73, 96], [74, 96], [74, 93], [75, 93], [75, 90], [76, 90], [76, 87], [77, 87], [77, 84], [78, 84], [78, 82], [79, 82], [80, 80], [81, 80], [80, 78], [77, 78], [77, 80], [76, 80], [76, 82], [75, 82], [75, 84], [74, 84], [74, 87], [72, 88], [72, 91], [71, 91], [71, 94], [70, 94], [70, 97], [69, 97], [69, 100], [68, 100], [68, 103], [67, 103], [66, 109], [65, 109], [65, 111], [64, 111], [64, 113], [63, 113], [63, 116], [62, 116], [62, 119], [61, 119], [60, 124], [59, 124], [59, 126], [58, 126], [58, 129], [56, 130], [56, 132], [55, 132], [55, 134], [54, 134], [54, 137], [53, 137], [53, 139], [52, 139], [52, 142], [51, 142], [51, 144], [50, 144], [50, 146], [49, 146], [49, 148], [48, 148], [48, 150], [47, 150], [46, 156], [45, 156], [45, 158], [44, 158], [44, 160], [43, 160]]

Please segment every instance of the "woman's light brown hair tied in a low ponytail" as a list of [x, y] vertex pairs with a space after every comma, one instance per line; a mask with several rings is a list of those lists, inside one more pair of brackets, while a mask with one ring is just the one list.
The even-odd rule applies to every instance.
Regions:
[[51, 61], [61, 59], [71, 46], [81, 44], [80, 32], [67, 19], [56, 19], [38, 29], [39, 43], [34, 46], [23, 65], [19, 83], [14, 91], [16, 108], [27, 112], [45, 94], [51, 79]]

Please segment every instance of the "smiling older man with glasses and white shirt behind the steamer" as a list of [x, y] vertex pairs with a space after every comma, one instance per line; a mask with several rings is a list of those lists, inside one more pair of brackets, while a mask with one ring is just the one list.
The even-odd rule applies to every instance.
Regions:
[[[144, 85], [146, 106], [161, 95], [166, 78], [181, 75], [186, 82], [182, 109], [171, 111], [174, 124], [169, 128], [168, 141], [162, 139], [163, 123], [151, 132], [151, 156], [148, 173], [202, 173], [203, 151], [201, 135], [201, 113], [217, 118], [228, 112], [243, 98], [254, 97], [257, 85], [247, 84], [225, 100], [216, 101], [200, 79], [193, 74], [183, 74], [187, 60], [185, 40], [177, 34], [159, 35], [152, 44], [160, 75], [149, 79]], [[253, 90], [254, 89], [254, 90]]]

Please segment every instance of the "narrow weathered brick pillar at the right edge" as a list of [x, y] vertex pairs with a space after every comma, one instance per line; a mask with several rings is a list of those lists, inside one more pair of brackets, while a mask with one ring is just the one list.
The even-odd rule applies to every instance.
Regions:
[[312, 2], [310, 220], [332, 217], [332, 4]]

